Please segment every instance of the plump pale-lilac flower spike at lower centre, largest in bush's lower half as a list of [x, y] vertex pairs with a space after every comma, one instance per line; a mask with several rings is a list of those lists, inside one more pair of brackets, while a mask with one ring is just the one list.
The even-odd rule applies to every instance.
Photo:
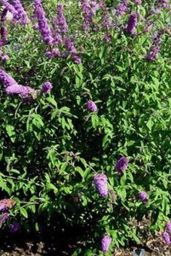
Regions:
[[101, 197], [108, 195], [107, 177], [105, 174], [96, 174], [94, 176], [94, 184]]

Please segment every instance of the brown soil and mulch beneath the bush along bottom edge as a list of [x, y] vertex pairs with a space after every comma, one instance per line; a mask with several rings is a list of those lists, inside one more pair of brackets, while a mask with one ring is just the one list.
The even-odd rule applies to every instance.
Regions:
[[[70, 236], [71, 237], [71, 236]], [[72, 242], [66, 234], [60, 234], [60, 237], [46, 234], [34, 237], [26, 237], [23, 234], [12, 236], [3, 236], [1, 238], [0, 255], [1, 256], [62, 256], [72, 255], [73, 249], [79, 246], [79, 242]], [[171, 256], [171, 248], [163, 245], [161, 235], [155, 239], [149, 239], [145, 245], [130, 245], [128, 248], [115, 248], [112, 256], [133, 256], [134, 248], [144, 248], [145, 256]], [[98, 256], [98, 255], [97, 255]]]

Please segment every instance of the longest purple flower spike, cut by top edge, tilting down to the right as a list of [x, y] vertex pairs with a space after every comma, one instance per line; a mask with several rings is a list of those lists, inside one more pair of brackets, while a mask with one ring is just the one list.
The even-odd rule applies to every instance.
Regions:
[[41, 32], [43, 41], [46, 44], [53, 44], [52, 32], [50, 27], [48, 26], [48, 20], [46, 18], [45, 12], [43, 10], [43, 6], [41, 0], [34, 0], [35, 6], [35, 15], [37, 16], [38, 28]]

